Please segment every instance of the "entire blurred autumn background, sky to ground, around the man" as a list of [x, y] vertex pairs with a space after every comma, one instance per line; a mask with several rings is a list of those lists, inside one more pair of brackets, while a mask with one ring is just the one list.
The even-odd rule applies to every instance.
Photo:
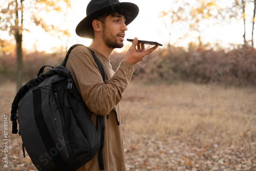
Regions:
[[[41, 66], [90, 45], [75, 34], [89, 2], [0, 0], [1, 115]], [[125, 39], [163, 44], [135, 65], [121, 101], [127, 170], [255, 170], [256, 0], [120, 2], [140, 9]], [[130, 46], [113, 51], [114, 71]], [[10, 129], [0, 169], [36, 170]]]

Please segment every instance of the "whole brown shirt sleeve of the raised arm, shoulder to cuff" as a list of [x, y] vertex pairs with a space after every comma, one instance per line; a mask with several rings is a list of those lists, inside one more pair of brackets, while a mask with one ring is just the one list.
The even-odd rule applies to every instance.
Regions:
[[108, 115], [122, 99], [134, 72], [129, 62], [122, 61], [113, 77], [104, 83], [90, 51], [85, 47], [71, 51], [66, 67], [88, 109], [102, 116]]

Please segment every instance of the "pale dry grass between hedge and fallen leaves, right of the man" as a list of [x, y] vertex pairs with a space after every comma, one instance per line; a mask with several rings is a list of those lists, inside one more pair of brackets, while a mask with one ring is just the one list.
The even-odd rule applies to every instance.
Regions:
[[[125, 91], [122, 125], [125, 134], [156, 135], [196, 143], [215, 141], [255, 154], [256, 92], [253, 88], [133, 84]], [[191, 142], [192, 141], [192, 142]]]

